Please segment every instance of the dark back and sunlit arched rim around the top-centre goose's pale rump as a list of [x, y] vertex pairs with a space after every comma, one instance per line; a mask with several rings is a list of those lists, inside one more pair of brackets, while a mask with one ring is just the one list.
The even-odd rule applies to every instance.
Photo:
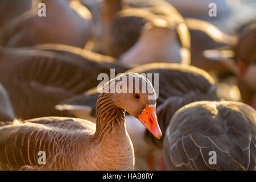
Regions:
[[[142, 35], [143, 27], [147, 22], [152, 22], [154, 19], [163, 17], [175, 24], [176, 31], [174, 30], [173, 34], [177, 34], [180, 48], [182, 47], [189, 52], [189, 31], [184, 23], [183, 17], [178, 13], [175, 7], [164, 1], [150, 1], [147, 3], [139, 1], [136, 3], [136, 5], [131, 3], [131, 7], [133, 8], [126, 8], [118, 11], [112, 18], [113, 20], [112, 23], [110, 23], [110, 27], [106, 28], [105, 38], [107, 40], [105, 47], [108, 55], [120, 57], [122, 53], [125, 53], [128, 49], [134, 46]], [[131, 26], [126, 26], [127, 24], [130, 24]], [[175, 41], [173, 42], [176, 44]], [[190, 53], [188, 53], [187, 56], [189, 57], [184, 57], [185, 62], [190, 63]]]

